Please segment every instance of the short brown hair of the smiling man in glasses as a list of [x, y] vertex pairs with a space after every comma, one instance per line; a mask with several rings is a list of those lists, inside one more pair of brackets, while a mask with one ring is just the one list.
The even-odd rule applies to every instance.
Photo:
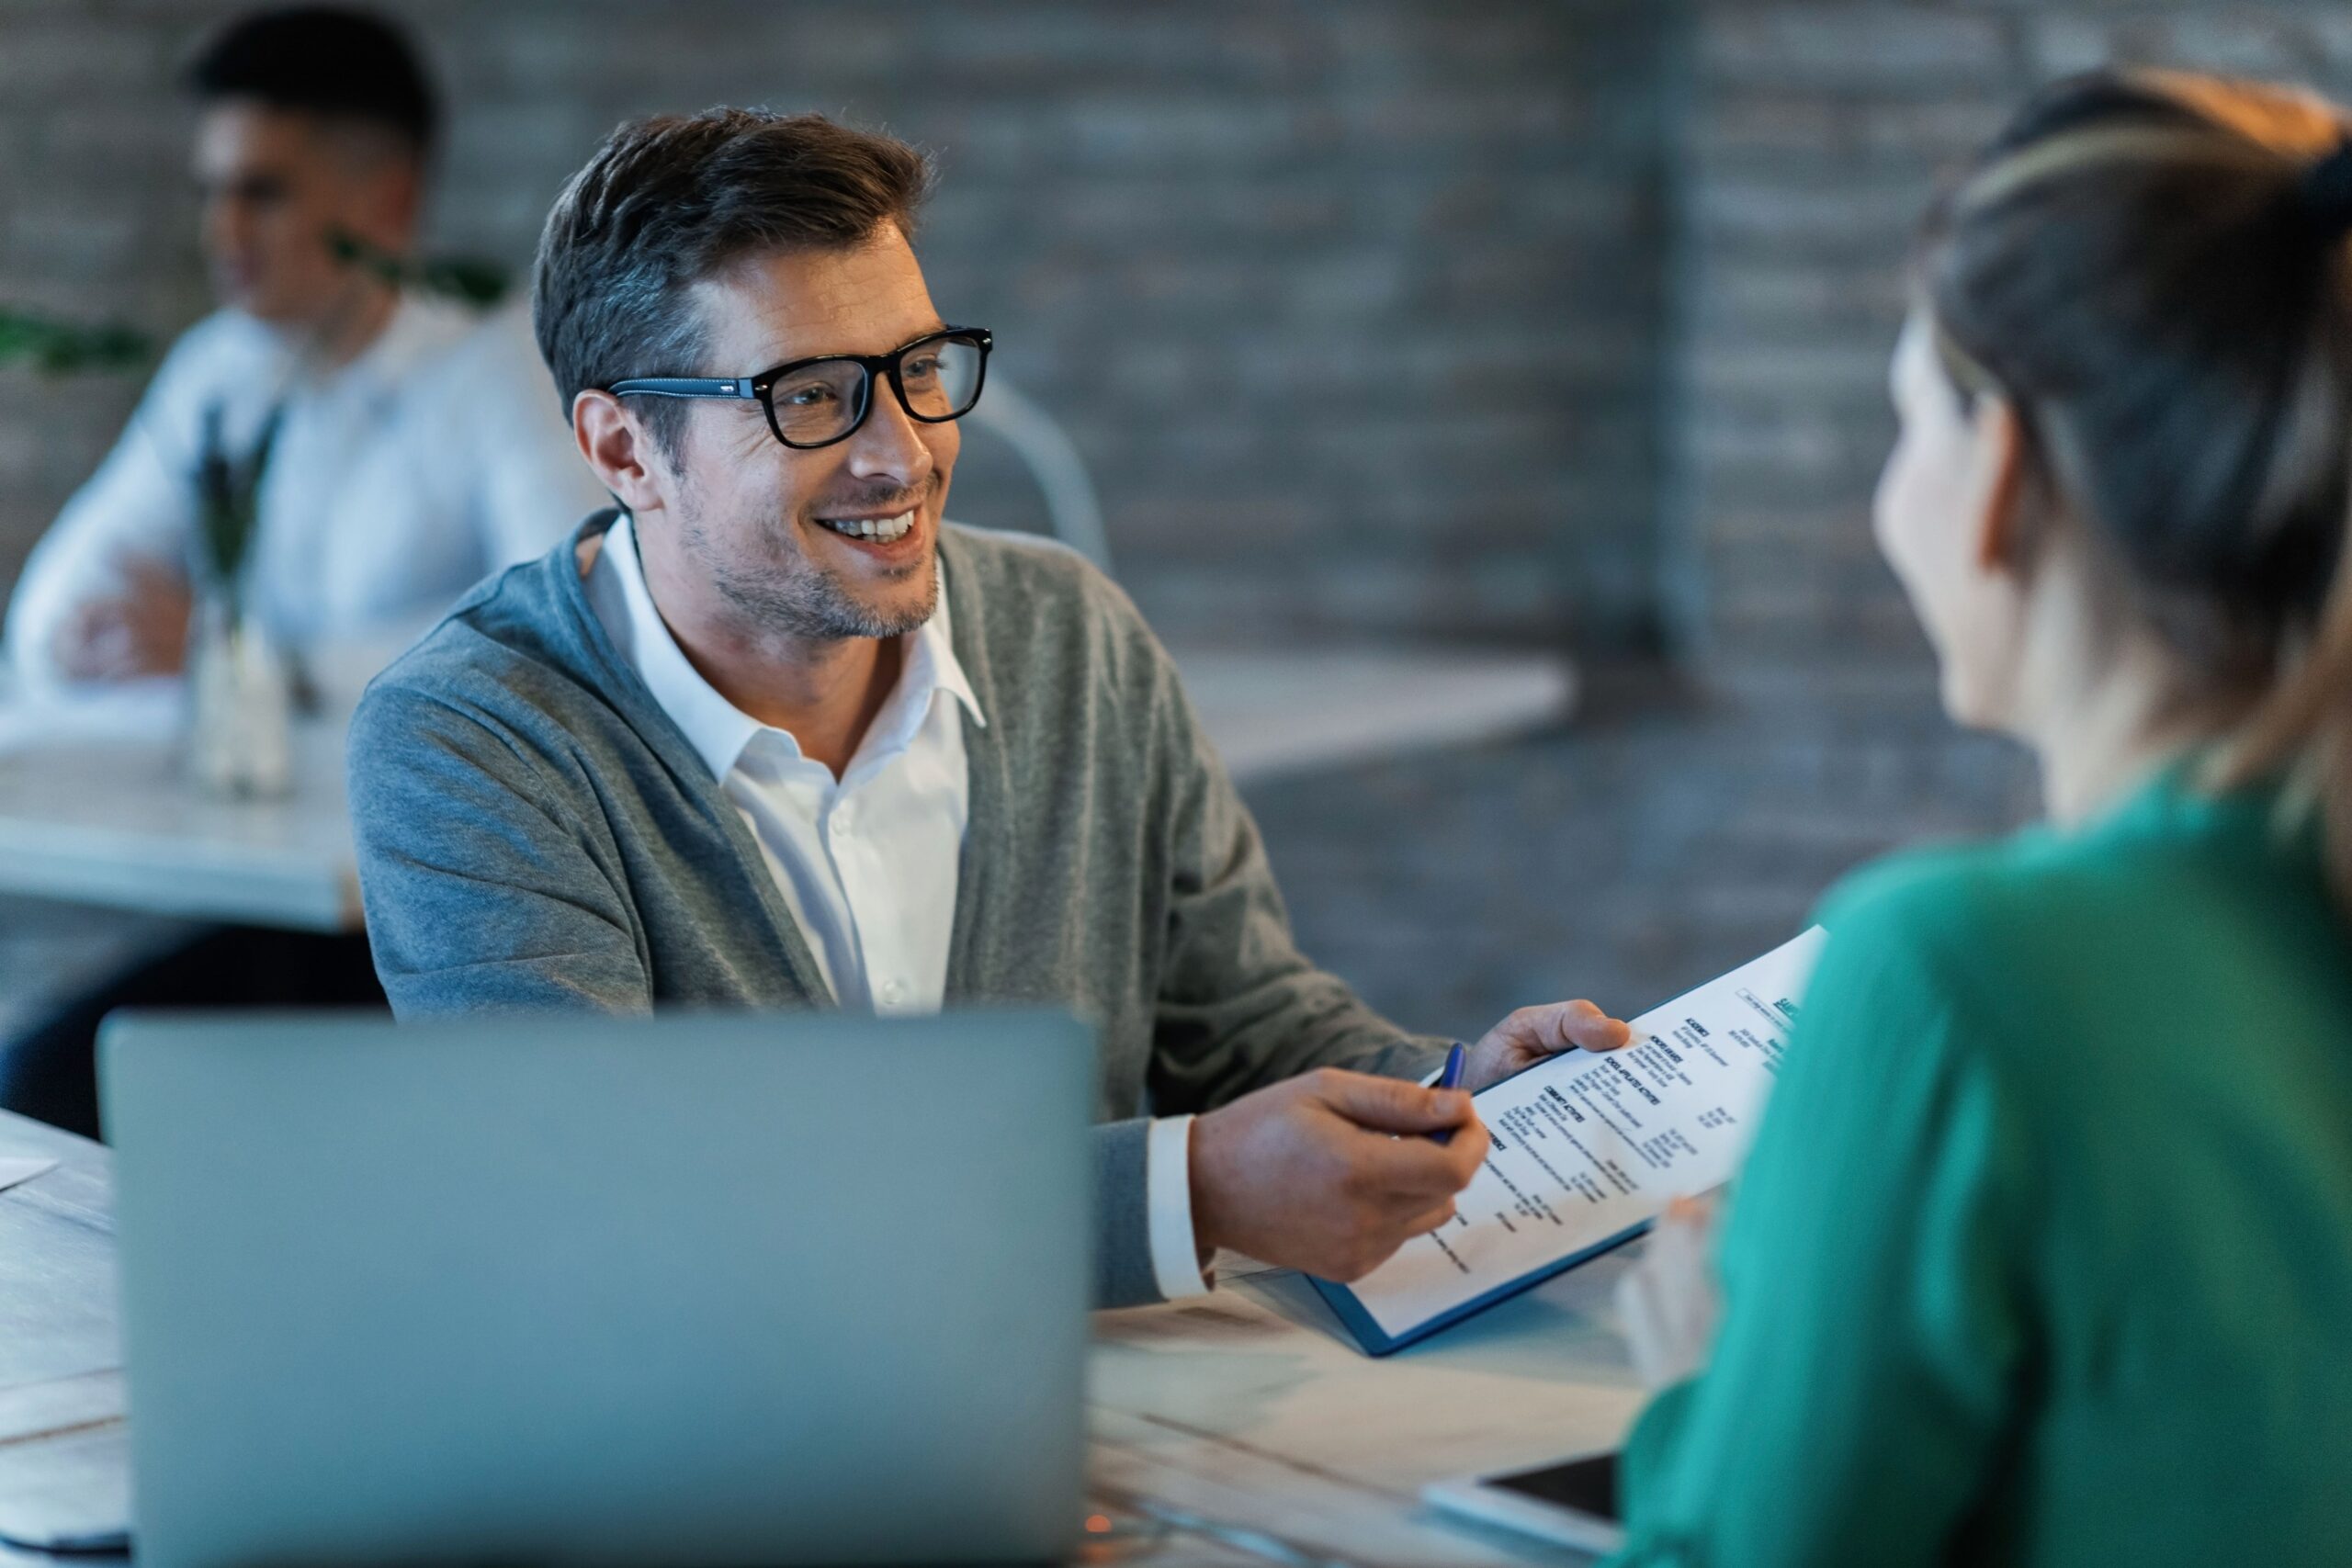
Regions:
[[[706, 367], [689, 289], [743, 256], [849, 249], [884, 226], [913, 237], [931, 162], [823, 115], [710, 108], [616, 127], [548, 212], [532, 275], [539, 353], [564, 407], [628, 376]], [[682, 402], [647, 397], [675, 456]]]

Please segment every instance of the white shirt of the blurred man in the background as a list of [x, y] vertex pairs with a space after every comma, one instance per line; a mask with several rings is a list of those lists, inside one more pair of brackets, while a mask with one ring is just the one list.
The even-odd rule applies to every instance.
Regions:
[[7, 616], [19, 679], [66, 684], [59, 628], [122, 590], [127, 557], [181, 569], [195, 536], [205, 411], [247, 451], [285, 416], [261, 482], [261, 623], [353, 693], [475, 581], [553, 548], [604, 491], [572, 447], [529, 317], [402, 296], [376, 341], [325, 374], [221, 310], [191, 327], [99, 470], [26, 562]]

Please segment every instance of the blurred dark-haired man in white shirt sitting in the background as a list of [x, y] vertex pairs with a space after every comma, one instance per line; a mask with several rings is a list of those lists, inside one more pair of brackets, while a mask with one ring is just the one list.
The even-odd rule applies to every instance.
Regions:
[[362, 12], [228, 24], [188, 66], [221, 310], [33, 550], [7, 616], [21, 684], [181, 670], [195, 470], [278, 414], [247, 555], [261, 625], [346, 701], [480, 576], [595, 505], [522, 310], [400, 287], [435, 141], [407, 40]]

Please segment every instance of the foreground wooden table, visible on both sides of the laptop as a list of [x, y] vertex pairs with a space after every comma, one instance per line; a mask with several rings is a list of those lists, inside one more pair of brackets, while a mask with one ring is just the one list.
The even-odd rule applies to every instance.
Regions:
[[[64, 1164], [0, 1192], [0, 1500], [120, 1512], [125, 1425], [108, 1152], [0, 1112], [0, 1159]], [[1606, 1319], [1625, 1251], [1385, 1361], [1303, 1279], [1225, 1260], [1211, 1298], [1105, 1312], [1089, 1373], [1084, 1563], [1381, 1568], [1564, 1563], [1432, 1519], [1425, 1481], [1613, 1443], [1639, 1403]], [[56, 1563], [7, 1552], [0, 1566]]]

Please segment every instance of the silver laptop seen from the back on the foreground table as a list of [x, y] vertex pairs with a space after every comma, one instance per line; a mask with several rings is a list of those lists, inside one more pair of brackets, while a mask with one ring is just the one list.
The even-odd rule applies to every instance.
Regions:
[[1049, 1561], [1061, 1016], [115, 1018], [141, 1568]]

